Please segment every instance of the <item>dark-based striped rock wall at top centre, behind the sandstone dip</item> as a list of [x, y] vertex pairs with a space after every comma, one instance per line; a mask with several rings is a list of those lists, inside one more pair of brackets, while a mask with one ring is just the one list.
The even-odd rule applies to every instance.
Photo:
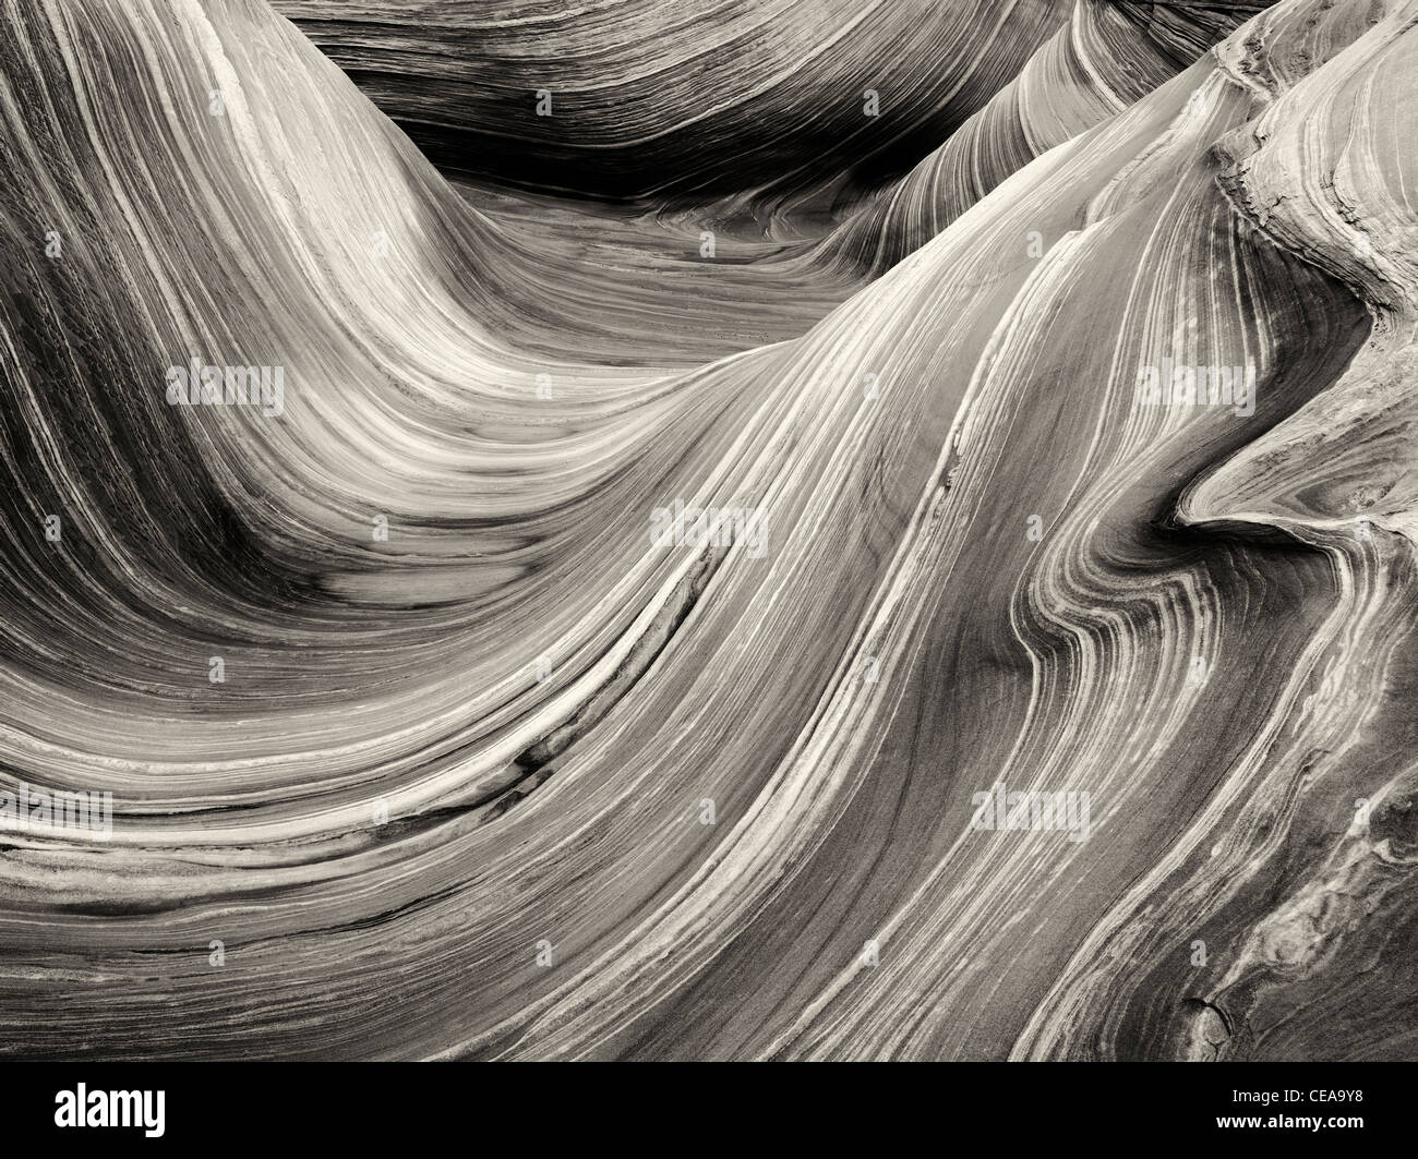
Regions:
[[[988, 101], [1061, 0], [279, 0], [445, 170], [597, 200], [876, 186]], [[1200, 48], [1198, 48], [1200, 51]], [[878, 112], [864, 115], [875, 95]], [[535, 116], [539, 101], [542, 115]]]

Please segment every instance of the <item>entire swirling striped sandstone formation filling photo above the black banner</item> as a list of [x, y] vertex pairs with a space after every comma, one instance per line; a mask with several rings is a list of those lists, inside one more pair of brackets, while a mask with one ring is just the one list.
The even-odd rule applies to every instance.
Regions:
[[1418, 3], [279, 7], [0, 0], [0, 1053], [1412, 1054]]

